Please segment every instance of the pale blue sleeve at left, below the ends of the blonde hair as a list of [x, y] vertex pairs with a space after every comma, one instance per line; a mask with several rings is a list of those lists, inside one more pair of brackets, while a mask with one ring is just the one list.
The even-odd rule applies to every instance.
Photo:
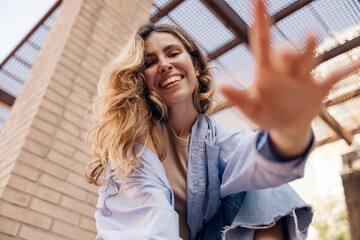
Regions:
[[96, 239], [180, 239], [172, 194], [146, 164], [121, 184], [110, 177], [99, 189]]

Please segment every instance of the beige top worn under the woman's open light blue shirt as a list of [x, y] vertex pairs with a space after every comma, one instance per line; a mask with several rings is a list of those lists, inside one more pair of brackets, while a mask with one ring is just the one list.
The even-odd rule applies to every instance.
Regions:
[[162, 164], [175, 195], [175, 211], [179, 215], [180, 237], [187, 240], [190, 239], [186, 203], [186, 176], [190, 135], [186, 139], [179, 138], [172, 127], [163, 124], [161, 127], [157, 126], [157, 130], [164, 142], [166, 151]]

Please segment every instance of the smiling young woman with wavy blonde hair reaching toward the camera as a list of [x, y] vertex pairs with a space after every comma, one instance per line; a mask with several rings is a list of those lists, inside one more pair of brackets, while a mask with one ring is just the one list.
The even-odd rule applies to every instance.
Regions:
[[206, 115], [214, 94], [209, 67], [172, 26], [141, 27], [104, 69], [89, 131], [96, 160], [86, 171], [101, 185], [97, 239], [306, 238], [312, 209], [283, 183], [303, 175], [311, 120], [355, 67], [315, 82], [314, 37], [301, 54], [276, 53], [264, 4], [253, 2], [254, 84], [221, 91], [261, 131], [220, 126]]

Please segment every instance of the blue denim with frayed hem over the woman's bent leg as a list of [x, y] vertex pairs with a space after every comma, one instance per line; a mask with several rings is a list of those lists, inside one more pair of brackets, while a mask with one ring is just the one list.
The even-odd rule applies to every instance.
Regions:
[[225, 197], [218, 211], [197, 234], [196, 240], [254, 238], [256, 229], [270, 228], [284, 218], [286, 239], [306, 239], [313, 208], [288, 185]]

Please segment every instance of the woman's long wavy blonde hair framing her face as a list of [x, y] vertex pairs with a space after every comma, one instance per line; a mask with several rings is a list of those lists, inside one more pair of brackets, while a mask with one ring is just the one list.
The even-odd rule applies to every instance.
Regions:
[[94, 122], [86, 135], [86, 143], [95, 160], [85, 170], [86, 180], [101, 184], [101, 176], [112, 166], [111, 175], [123, 180], [139, 161], [136, 143], [154, 142], [160, 160], [165, 157], [164, 145], [155, 131], [157, 122], [166, 123], [168, 109], [165, 102], [149, 91], [144, 77], [145, 41], [153, 32], [169, 33], [179, 39], [194, 66], [200, 67], [198, 83], [193, 93], [194, 106], [199, 113], [212, 109], [214, 81], [207, 59], [194, 41], [180, 29], [170, 25], [142, 26], [128, 41], [120, 55], [102, 71], [98, 96], [93, 102]]

